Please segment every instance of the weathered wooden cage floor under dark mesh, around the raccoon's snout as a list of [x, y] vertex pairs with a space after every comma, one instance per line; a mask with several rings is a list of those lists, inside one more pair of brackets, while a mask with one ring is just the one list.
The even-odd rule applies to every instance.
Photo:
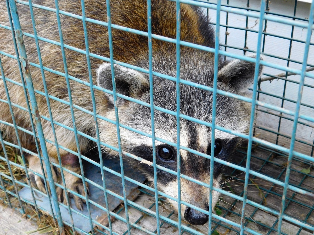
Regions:
[[[271, 175], [274, 179], [283, 180], [284, 172], [286, 170], [284, 159], [280, 159], [283, 157], [281, 153], [274, 152], [271, 149], [257, 147], [252, 153], [252, 169], [257, 172], [262, 172], [267, 175]], [[285, 156], [286, 157], [286, 156]], [[307, 188], [310, 192], [311, 190], [311, 180], [313, 179], [313, 175], [304, 174], [300, 170], [303, 167], [307, 167], [310, 165], [304, 165], [302, 162], [298, 164], [298, 161], [295, 160], [292, 170], [293, 179], [295, 182], [291, 183], [296, 187]], [[234, 163], [245, 166], [246, 162], [246, 151], [245, 149], [239, 150], [237, 157]], [[267, 167], [266, 167], [267, 166]], [[275, 172], [275, 173], [274, 173]], [[280, 201], [282, 197], [282, 187], [278, 187], [275, 184], [272, 184], [268, 181], [260, 179], [255, 176], [250, 176], [248, 186], [248, 197], [250, 200], [268, 206], [273, 209], [279, 210]], [[244, 185], [244, 173], [241, 171], [230, 169], [230, 175], [226, 175], [225, 183], [223, 184], [223, 188], [228, 189], [231, 193], [243, 196], [243, 185]], [[143, 195], [141, 199], [136, 202], [140, 205], [144, 205], [146, 208], [155, 211], [155, 202], [153, 200], [154, 195], [151, 192], [141, 189], [140, 190]], [[215, 213], [219, 216], [227, 218], [231, 221], [238, 222], [241, 220], [241, 201], [232, 199], [231, 197], [222, 196], [222, 201], [219, 201], [217, 206], [215, 207]], [[165, 215], [168, 218], [171, 218], [177, 221], [176, 212], [171, 210], [171, 208], [167, 207], [164, 199], [160, 198], [160, 208], [162, 208], [160, 213]], [[303, 197], [299, 194], [296, 194], [293, 191], [288, 191], [287, 194], [287, 204], [285, 206], [285, 215], [298, 219], [306, 224], [313, 224], [312, 211], [313, 211], [313, 203], [312, 200], [306, 197]], [[153, 220], [147, 218], [146, 213], [144, 211], [140, 211], [143, 213], [136, 213], [136, 210], [131, 210], [132, 213], [135, 213], [133, 220], [134, 223], [141, 223], [142, 226], [147, 226], [146, 228], [150, 228], [151, 224], [155, 223]], [[123, 212], [123, 208], [120, 208], [116, 213], [119, 214]], [[271, 216], [267, 212], [260, 210], [254, 206], [249, 206], [245, 215], [245, 226], [252, 228], [254, 231], [258, 231], [261, 234], [275, 234], [278, 231], [278, 217]], [[119, 224], [119, 226], [123, 226]], [[188, 225], [189, 226], [189, 225]], [[125, 227], [125, 226], [124, 226]], [[153, 226], [152, 226], [153, 227]], [[192, 227], [193, 229], [197, 229], [198, 232], [206, 233], [206, 228], [197, 228]], [[177, 227], [171, 226], [171, 224], [162, 222], [160, 224], [160, 229], [163, 233], [166, 234], [177, 234]], [[156, 232], [151, 230], [152, 232]], [[219, 220], [214, 220], [212, 226], [213, 234], [240, 234], [240, 231], [233, 226], [230, 226], [228, 223], [221, 222]], [[126, 234], [127, 230], [123, 234]], [[189, 232], [182, 232], [182, 234], [189, 234]], [[142, 233], [138, 233], [142, 234]], [[143, 233], [144, 234], [144, 233]], [[193, 233], [192, 233], [193, 234]], [[281, 234], [311, 234], [307, 229], [298, 226], [291, 226], [289, 222], [284, 222], [284, 227], [281, 231]]]

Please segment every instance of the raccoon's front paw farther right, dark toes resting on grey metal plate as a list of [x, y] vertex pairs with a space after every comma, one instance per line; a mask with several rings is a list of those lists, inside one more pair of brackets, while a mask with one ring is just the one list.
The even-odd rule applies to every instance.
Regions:
[[[80, 174], [79, 168], [69, 169], [69, 170], [72, 170], [75, 173]], [[80, 178], [76, 177], [75, 175], [72, 175], [68, 172], [64, 172], [64, 179], [65, 179], [65, 184], [67, 186], [67, 189], [70, 189], [70, 190], [82, 195], [83, 197], [85, 197], [84, 185], [83, 185], [82, 179], [80, 179]], [[85, 182], [85, 185], [86, 185], [87, 194], [90, 195], [88, 183]], [[68, 193], [69, 198], [74, 199], [74, 203], [75, 203], [76, 208], [83, 211], [83, 203], [86, 203], [86, 200], [83, 198], [80, 198], [76, 195], [73, 195], [73, 193], [70, 193], [70, 192], [67, 192], [67, 193]], [[68, 205], [65, 190], [63, 190], [63, 203], [65, 205]]]

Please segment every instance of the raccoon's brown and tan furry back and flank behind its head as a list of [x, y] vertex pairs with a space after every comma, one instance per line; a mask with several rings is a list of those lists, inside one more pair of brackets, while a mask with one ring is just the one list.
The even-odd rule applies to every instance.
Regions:
[[[146, 0], [111, 0], [111, 23], [123, 27], [137, 29], [147, 32], [147, 1]], [[73, 18], [60, 14], [61, 29], [63, 42], [65, 44], [65, 58], [62, 57], [60, 46], [59, 28], [57, 24], [57, 16], [53, 11], [47, 11], [36, 8], [36, 4], [55, 9], [53, 0], [33, 0], [34, 18], [36, 23], [36, 31], [39, 37], [40, 55], [42, 65], [44, 66], [45, 81], [48, 94], [65, 101], [69, 100], [68, 88], [65, 79], [66, 71], [64, 59], [67, 63], [67, 72], [69, 76], [79, 78], [89, 82], [89, 73], [86, 59], [85, 37], [82, 19]], [[59, 0], [60, 11], [69, 12], [78, 16], [82, 15], [80, 1], [77, 0]], [[28, 60], [30, 62], [30, 72], [35, 90], [44, 91], [43, 77], [39, 68], [40, 61], [36, 48], [35, 39], [27, 36], [34, 34], [33, 24], [30, 15], [30, 8], [27, 5], [17, 4], [19, 21], [24, 34], [24, 44]], [[85, 0], [86, 17], [102, 22], [107, 22], [106, 1]], [[0, 1], [0, 24], [10, 26], [8, 20], [8, 12], [5, 1]], [[95, 55], [110, 58], [108, 29], [101, 24], [86, 22], [88, 32], [89, 52], [91, 60], [91, 71], [93, 83], [96, 84], [96, 68], [103, 63], [102, 60], [96, 59]], [[152, 33], [166, 36], [172, 39], [176, 38], [176, 3], [166, 0], [152, 1]], [[112, 29], [113, 38], [113, 54], [114, 59], [133, 65], [141, 65], [148, 61], [148, 38], [138, 34], [128, 33], [118, 29]], [[196, 8], [181, 4], [181, 40], [188, 41], [205, 46], [214, 46], [214, 30], [209, 26], [205, 16]], [[181, 54], [188, 49], [181, 47]], [[0, 27], [0, 51], [4, 51], [15, 56], [14, 42], [12, 33], [8, 29]], [[162, 60], [167, 55], [173, 58], [174, 68], [176, 61], [176, 46], [173, 43], [153, 39], [153, 55]], [[0, 55], [7, 78], [21, 82], [19, 67], [17, 60]], [[140, 61], [140, 62], [139, 62]], [[168, 60], [169, 61], [169, 60]], [[32, 66], [32, 63], [35, 66]], [[159, 62], [157, 62], [159, 63]], [[163, 62], [164, 63], [164, 62]], [[160, 66], [155, 66], [158, 68]], [[60, 75], [61, 73], [61, 75]], [[73, 103], [92, 111], [92, 99], [89, 86], [83, 85], [77, 81], [69, 80], [72, 93]], [[17, 86], [11, 82], [7, 82], [11, 102], [22, 107], [26, 106], [24, 91], [21, 86]], [[102, 103], [106, 102], [102, 92], [94, 90], [97, 108], [102, 107]], [[0, 79], [0, 98], [7, 100], [4, 92], [4, 84]], [[49, 117], [46, 97], [36, 94], [37, 103], [40, 113]], [[68, 105], [50, 100], [50, 107], [53, 112], [54, 120], [61, 123], [72, 124], [71, 112]], [[8, 104], [0, 102], [0, 119], [12, 123]], [[93, 124], [92, 116], [77, 112], [75, 118], [80, 119], [82, 129], [89, 129]], [[30, 117], [28, 112], [24, 112], [14, 107], [14, 115], [17, 125], [31, 130]], [[78, 122], [79, 123], [79, 122]], [[89, 124], [88, 124], [89, 123]], [[51, 124], [46, 123], [47, 129]], [[7, 125], [2, 127], [8, 129], [5, 131], [7, 136], [14, 136], [14, 129]], [[24, 135], [25, 143], [28, 143], [29, 136]], [[20, 137], [21, 138], [21, 137]]]

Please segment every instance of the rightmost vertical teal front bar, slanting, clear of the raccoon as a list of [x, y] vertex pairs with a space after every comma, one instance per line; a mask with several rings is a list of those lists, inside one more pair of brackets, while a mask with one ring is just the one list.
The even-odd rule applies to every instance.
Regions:
[[283, 219], [284, 209], [285, 209], [285, 200], [286, 200], [286, 196], [287, 196], [289, 177], [290, 177], [290, 167], [291, 167], [291, 163], [292, 163], [292, 157], [294, 155], [293, 149], [294, 149], [294, 145], [295, 145], [296, 129], [298, 126], [298, 118], [299, 118], [299, 114], [300, 114], [300, 106], [301, 106], [301, 98], [302, 98], [303, 85], [304, 85], [304, 79], [305, 79], [307, 58], [308, 58], [308, 54], [309, 54], [311, 35], [312, 35], [313, 14], [314, 14], [314, 3], [312, 2], [308, 26], [307, 26], [306, 43], [305, 43], [305, 47], [304, 47], [303, 64], [302, 64], [302, 70], [301, 70], [301, 75], [300, 75], [300, 84], [299, 84], [299, 90], [298, 90], [298, 99], [297, 99], [297, 103], [296, 103], [295, 116], [294, 116], [294, 121], [293, 121], [293, 129], [292, 129], [292, 133], [291, 133], [291, 143], [290, 143], [290, 149], [289, 149], [289, 155], [288, 155], [288, 161], [287, 161], [286, 176], [284, 178], [284, 190], [282, 193], [281, 209], [280, 209], [280, 214], [279, 214], [278, 234], [280, 234], [280, 231], [281, 231], [282, 219]]

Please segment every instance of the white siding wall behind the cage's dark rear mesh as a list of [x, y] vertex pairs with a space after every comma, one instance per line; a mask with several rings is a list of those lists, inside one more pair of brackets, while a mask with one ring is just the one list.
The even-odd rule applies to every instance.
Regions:
[[[230, 0], [229, 5], [231, 6], [241, 6], [246, 7], [246, 0], [242, 1], [236, 1], [236, 0]], [[269, 8], [270, 12], [275, 12], [279, 14], [285, 14], [293, 16], [294, 12], [294, 3], [295, 1], [291, 0], [272, 0]], [[223, 4], [226, 4], [226, 1], [223, 1]], [[250, 1], [250, 8], [252, 9], [259, 9], [260, 8], [260, 1], [258, 0], [251, 0]], [[304, 2], [298, 2], [297, 3], [297, 10], [296, 10], [296, 16], [299, 18], [308, 18], [309, 17], [309, 10], [310, 10], [310, 4], [304, 3]], [[211, 22], [216, 21], [216, 12], [215, 10], [209, 9], [209, 16], [211, 18]], [[221, 18], [220, 18], [220, 24], [226, 24], [226, 13], [221, 12]], [[230, 26], [236, 26], [245, 28], [246, 27], [246, 16], [237, 15], [233, 13], [229, 13], [228, 15], [228, 25]], [[259, 19], [256, 18], [249, 18], [248, 19], [248, 28], [258, 30], [259, 27]], [[291, 28], [290, 25], [280, 24], [276, 22], [267, 22], [267, 33], [281, 35], [285, 37], [291, 37]], [[228, 38], [227, 38], [227, 45], [236, 46], [236, 47], [244, 47], [244, 40], [245, 40], [245, 31], [238, 30], [238, 29], [230, 29], [228, 28]], [[300, 39], [305, 41], [306, 39], [307, 30], [302, 29], [299, 27], [294, 28], [293, 38]], [[311, 42], [314, 42], [314, 37], [312, 36]], [[220, 43], [225, 44], [225, 27], [220, 27]], [[289, 44], [290, 41], [287, 39], [280, 39], [273, 36], [266, 36], [265, 41], [265, 49], [264, 53], [270, 54], [270, 55], [276, 55], [283, 58], [288, 57], [289, 53]], [[257, 33], [248, 32], [247, 33], [247, 47], [250, 50], [256, 50], [257, 48]], [[292, 43], [292, 50], [291, 50], [291, 56], [290, 58], [297, 61], [303, 60], [304, 55], [304, 43], [300, 42], [293, 42]], [[243, 55], [243, 50], [236, 50], [227, 48], [228, 52], [233, 52], [236, 54]], [[268, 62], [273, 62], [275, 64], [284, 65], [287, 66], [286, 60], [276, 59], [272, 58], [270, 56], [264, 56], [264, 60]], [[314, 46], [310, 46], [309, 56], [308, 56], [308, 64], [314, 65]], [[289, 67], [295, 68], [295, 69], [301, 69], [302, 65], [290, 62]], [[283, 73], [284, 71], [273, 69], [269, 67], [265, 67], [263, 70], [264, 73], [268, 73], [271, 75], [278, 75], [280, 73]], [[313, 72], [313, 71], [312, 71]], [[265, 77], [265, 75], [263, 75]], [[289, 76], [288, 77], [291, 80], [299, 81], [300, 76]], [[306, 78], [305, 84], [314, 86], [314, 79]], [[285, 97], [289, 98], [291, 100], [296, 101], [297, 100], [297, 92], [298, 92], [298, 84], [287, 82], [286, 86], [286, 92]], [[264, 81], [261, 84], [261, 90], [270, 94], [277, 95], [279, 97], [282, 97], [283, 91], [284, 91], [284, 81], [283, 80], [273, 80], [272, 82]], [[263, 102], [267, 102], [276, 106], [281, 106], [282, 100], [279, 98], [271, 97], [269, 95], [260, 94], [259, 100]], [[304, 87], [303, 89], [303, 96], [302, 96], [302, 103], [312, 105], [314, 106], [314, 89], [309, 87]], [[284, 108], [295, 110], [295, 103], [284, 101]], [[262, 108], [262, 107], [260, 107]], [[271, 111], [274, 113], [275, 111]], [[301, 114], [306, 114], [309, 116], [314, 117], [314, 109], [301, 106]], [[290, 118], [293, 118], [290, 116]], [[304, 120], [301, 120], [304, 121]], [[270, 114], [266, 114], [264, 112], [258, 112], [258, 121], [257, 125], [259, 126], [265, 126], [274, 130], [277, 130], [278, 128], [278, 122], [279, 118]], [[306, 122], [306, 121], [304, 121]], [[307, 122], [309, 123], [309, 122]], [[285, 133], [287, 135], [291, 135], [292, 132], [292, 121], [282, 119], [281, 122], [281, 129], [280, 133]], [[314, 123], [309, 123], [314, 125]], [[299, 124], [297, 128], [297, 138], [306, 140], [308, 143], [313, 143], [314, 138], [314, 132], [312, 127], [307, 127], [304, 125]], [[288, 146], [286, 146], [288, 147]]]

